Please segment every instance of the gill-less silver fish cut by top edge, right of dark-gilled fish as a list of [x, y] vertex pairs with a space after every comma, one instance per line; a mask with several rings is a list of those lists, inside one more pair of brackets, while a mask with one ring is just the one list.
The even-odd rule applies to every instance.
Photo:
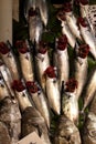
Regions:
[[41, 19], [43, 21], [44, 27], [46, 28], [49, 21], [49, 7], [46, 0], [38, 0], [38, 7], [40, 9]]

